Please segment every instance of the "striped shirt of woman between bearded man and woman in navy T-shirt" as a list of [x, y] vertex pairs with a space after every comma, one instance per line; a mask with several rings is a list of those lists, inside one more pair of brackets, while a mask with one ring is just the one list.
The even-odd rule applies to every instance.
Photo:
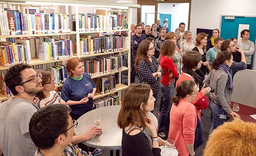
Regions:
[[[50, 91], [50, 96], [45, 99], [39, 99], [37, 96], [33, 100], [33, 106], [36, 107], [36, 109], [43, 108], [48, 105], [52, 104], [59, 104], [62, 100], [59, 97], [59, 94], [55, 91]], [[65, 102], [66, 103], [66, 102]], [[67, 103], [66, 103], [67, 105]]]

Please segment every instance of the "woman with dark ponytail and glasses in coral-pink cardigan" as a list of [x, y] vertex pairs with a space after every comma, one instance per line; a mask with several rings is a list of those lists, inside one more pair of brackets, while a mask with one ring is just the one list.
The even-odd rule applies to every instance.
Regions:
[[176, 91], [172, 98], [168, 139], [175, 141], [179, 156], [194, 156], [197, 113], [191, 102], [198, 94], [197, 85], [192, 80], [185, 80], [176, 87]]

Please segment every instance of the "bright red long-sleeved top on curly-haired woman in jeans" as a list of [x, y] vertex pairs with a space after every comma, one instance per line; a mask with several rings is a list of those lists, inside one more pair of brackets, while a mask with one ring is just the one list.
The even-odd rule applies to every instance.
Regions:
[[[173, 78], [178, 78], [179, 74], [177, 71], [177, 67], [173, 63], [173, 59], [167, 56], [161, 56], [160, 64], [162, 69], [164, 70], [164, 75], [162, 76], [161, 83], [163, 85], [169, 85], [169, 75], [173, 73]], [[170, 71], [169, 71], [170, 69]]]

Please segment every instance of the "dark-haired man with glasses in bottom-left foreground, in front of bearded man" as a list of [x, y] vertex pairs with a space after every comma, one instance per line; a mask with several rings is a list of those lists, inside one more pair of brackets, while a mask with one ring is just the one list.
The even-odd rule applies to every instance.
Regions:
[[62, 104], [48, 105], [33, 114], [29, 122], [31, 139], [38, 147], [35, 156], [96, 156], [102, 153], [96, 149], [86, 153], [71, 144], [74, 127], [78, 125], [72, 120], [71, 109]]

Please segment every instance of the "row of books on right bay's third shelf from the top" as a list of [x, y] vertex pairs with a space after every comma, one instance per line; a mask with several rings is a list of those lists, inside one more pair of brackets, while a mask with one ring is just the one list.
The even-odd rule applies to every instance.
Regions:
[[95, 57], [83, 60], [85, 72], [90, 76], [119, 71], [123, 67], [123, 55]]

